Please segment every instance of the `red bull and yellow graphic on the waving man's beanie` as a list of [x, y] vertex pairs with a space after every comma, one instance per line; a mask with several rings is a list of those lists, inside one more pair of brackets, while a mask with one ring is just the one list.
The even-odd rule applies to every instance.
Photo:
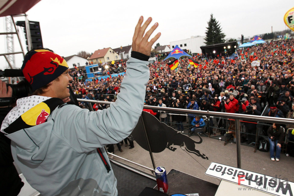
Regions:
[[32, 84], [37, 74], [53, 74], [58, 66], [68, 67], [66, 61], [49, 50], [35, 50], [36, 53], [27, 61], [23, 73], [27, 81]]

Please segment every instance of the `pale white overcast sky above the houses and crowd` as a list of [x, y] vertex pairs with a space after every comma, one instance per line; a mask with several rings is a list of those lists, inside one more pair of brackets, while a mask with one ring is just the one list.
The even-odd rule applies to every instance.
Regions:
[[[159, 23], [156, 32], [161, 36], [156, 43], [183, 40], [191, 36], [205, 36], [210, 14], [219, 21], [226, 38], [238, 39], [243, 34], [257, 34], [285, 30], [283, 17], [294, 6], [293, 0], [248, 1], [97, 1], [97, 0], [42, 0], [27, 11], [30, 21], [39, 21], [43, 46], [61, 56], [84, 50], [131, 45], [134, 27], [141, 15], [151, 16], [152, 24]], [[4, 17], [0, 28], [4, 28]], [[24, 20], [15, 18], [15, 21]], [[3, 31], [1, 31], [3, 32]], [[154, 36], [155, 34], [153, 34]], [[5, 51], [0, 38], [0, 51]], [[14, 41], [17, 45], [17, 40]], [[2, 51], [3, 50], [3, 51]], [[15, 47], [18, 51], [18, 46]], [[0, 57], [3, 69], [3, 57]], [[21, 62], [17, 62], [17, 67]]]

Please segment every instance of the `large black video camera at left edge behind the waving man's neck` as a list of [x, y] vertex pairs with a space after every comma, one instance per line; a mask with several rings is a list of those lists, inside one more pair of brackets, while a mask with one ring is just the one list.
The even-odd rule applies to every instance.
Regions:
[[[24, 74], [20, 69], [0, 70], [0, 79], [3, 79], [4, 77], [24, 77]], [[6, 86], [12, 88], [12, 96], [0, 98], [0, 106], [9, 106], [17, 99], [26, 97], [32, 93], [31, 85], [24, 78], [17, 84], [6, 84]]]

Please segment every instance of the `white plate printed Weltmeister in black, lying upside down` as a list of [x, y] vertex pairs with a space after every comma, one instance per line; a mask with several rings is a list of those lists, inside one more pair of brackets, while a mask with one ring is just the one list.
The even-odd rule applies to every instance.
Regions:
[[293, 196], [293, 182], [274, 178], [268, 175], [214, 162], [210, 163], [210, 166], [206, 170], [205, 174], [273, 195]]

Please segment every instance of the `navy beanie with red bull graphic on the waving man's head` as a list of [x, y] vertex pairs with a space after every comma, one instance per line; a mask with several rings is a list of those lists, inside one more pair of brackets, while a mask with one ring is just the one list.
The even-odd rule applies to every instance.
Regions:
[[67, 69], [68, 65], [61, 56], [46, 49], [30, 51], [21, 67], [33, 91], [49, 84]]

